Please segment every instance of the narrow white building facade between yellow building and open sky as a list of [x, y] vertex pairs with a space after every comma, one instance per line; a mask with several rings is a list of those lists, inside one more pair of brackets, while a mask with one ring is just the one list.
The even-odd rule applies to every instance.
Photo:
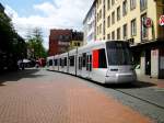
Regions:
[[95, 1], [83, 20], [84, 44], [95, 41]]

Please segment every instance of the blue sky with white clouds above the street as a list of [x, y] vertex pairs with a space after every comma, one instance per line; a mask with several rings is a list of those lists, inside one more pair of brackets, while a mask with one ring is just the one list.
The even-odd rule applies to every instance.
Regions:
[[44, 46], [48, 49], [50, 29], [83, 31], [83, 20], [93, 0], [0, 0], [12, 19], [17, 33], [24, 38], [35, 27], [43, 31]]

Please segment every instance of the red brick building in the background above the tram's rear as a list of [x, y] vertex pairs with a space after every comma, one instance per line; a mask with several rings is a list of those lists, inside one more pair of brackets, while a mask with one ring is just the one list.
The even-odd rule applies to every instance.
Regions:
[[72, 30], [50, 30], [49, 35], [49, 56], [68, 52], [69, 49], [81, 46], [83, 33]]

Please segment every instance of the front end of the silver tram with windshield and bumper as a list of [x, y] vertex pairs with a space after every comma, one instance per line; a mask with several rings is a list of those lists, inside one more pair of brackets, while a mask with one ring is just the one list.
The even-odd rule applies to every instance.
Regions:
[[107, 72], [106, 82], [133, 82], [137, 75], [132, 66], [129, 43], [125, 41], [106, 42]]

